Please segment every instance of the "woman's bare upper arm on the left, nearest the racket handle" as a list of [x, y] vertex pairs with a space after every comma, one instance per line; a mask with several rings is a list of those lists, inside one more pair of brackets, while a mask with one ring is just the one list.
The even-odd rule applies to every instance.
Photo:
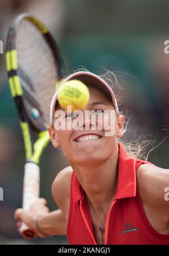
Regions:
[[70, 184], [72, 179], [72, 167], [68, 166], [61, 170], [53, 184], [52, 184], [52, 196], [55, 202], [63, 211], [65, 219], [68, 219], [69, 213], [69, 200], [70, 200]]

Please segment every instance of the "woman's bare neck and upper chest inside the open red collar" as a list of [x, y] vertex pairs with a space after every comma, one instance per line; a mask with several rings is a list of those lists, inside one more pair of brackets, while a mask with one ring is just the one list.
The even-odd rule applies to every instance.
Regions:
[[79, 183], [86, 193], [87, 200], [95, 211], [103, 213], [110, 200], [113, 200], [117, 188], [118, 145], [110, 158], [103, 163], [82, 166], [70, 163]]

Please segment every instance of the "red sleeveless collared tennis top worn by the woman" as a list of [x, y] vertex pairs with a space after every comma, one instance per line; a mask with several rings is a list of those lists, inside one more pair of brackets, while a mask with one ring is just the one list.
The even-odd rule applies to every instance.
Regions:
[[[136, 171], [149, 163], [130, 157], [118, 142], [118, 186], [105, 225], [105, 244], [169, 244], [169, 235], [155, 231], [146, 218], [136, 186]], [[69, 244], [96, 245], [94, 228], [84, 190], [72, 173], [69, 219]]]

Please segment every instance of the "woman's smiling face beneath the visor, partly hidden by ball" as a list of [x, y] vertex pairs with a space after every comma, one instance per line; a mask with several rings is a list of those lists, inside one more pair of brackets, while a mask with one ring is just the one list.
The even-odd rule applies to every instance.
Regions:
[[[99, 115], [103, 116], [103, 111], [105, 110], [106, 112], [114, 110], [113, 104], [100, 90], [90, 86], [88, 89], [90, 91], [90, 101], [83, 110], [83, 113], [85, 110], [92, 111], [95, 115], [95, 121], [92, 118], [86, 118], [84, 115], [81, 129], [56, 131], [54, 128], [48, 128], [52, 144], [54, 147], [61, 146], [65, 157], [70, 163], [85, 164], [85, 162], [98, 163], [105, 161], [113, 154], [117, 146], [116, 138], [123, 136], [124, 118], [119, 114], [114, 115], [113, 136], [106, 136], [104, 125], [101, 125], [100, 122], [110, 124], [110, 115], [107, 114], [102, 119], [99, 119]], [[58, 106], [57, 110], [61, 110], [61, 107]], [[71, 115], [68, 114], [65, 122], [68, 123], [72, 119], [74, 117], [71, 118]], [[100, 127], [103, 128], [100, 129]]]

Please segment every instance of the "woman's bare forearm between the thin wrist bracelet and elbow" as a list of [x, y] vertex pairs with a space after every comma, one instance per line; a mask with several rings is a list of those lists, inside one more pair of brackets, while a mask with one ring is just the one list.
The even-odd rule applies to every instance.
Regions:
[[66, 235], [67, 224], [60, 209], [40, 216], [38, 218], [38, 226], [48, 236]]

